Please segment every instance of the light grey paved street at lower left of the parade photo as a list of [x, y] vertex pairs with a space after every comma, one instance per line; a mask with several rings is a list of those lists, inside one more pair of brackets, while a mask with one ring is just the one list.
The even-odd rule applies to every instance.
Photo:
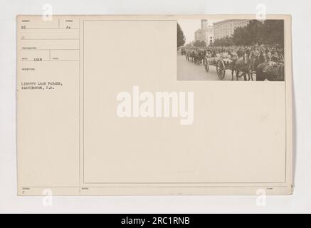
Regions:
[[[255, 80], [255, 76], [253, 78]], [[207, 73], [203, 65], [198, 66], [186, 61], [186, 57], [179, 53], [177, 54], [177, 79], [180, 81], [220, 81], [216, 66], [210, 66]], [[223, 81], [231, 81], [231, 70], [226, 70]], [[234, 74], [234, 81], [236, 81], [236, 73]], [[243, 78], [239, 78], [239, 81], [243, 81]]]

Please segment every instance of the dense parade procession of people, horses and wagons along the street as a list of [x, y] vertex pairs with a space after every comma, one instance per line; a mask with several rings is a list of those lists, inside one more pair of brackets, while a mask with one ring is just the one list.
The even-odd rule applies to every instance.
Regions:
[[[220, 59], [224, 69], [230, 69], [233, 80], [233, 73], [238, 76], [240, 73], [246, 80], [253, 80], [253, 73], [256, 73], [256, 80], [262, 81], [265, 78], [269, 81], [284, 81], [284, 48], [280, 46], [254, 45], [254, 46], [208, 46], [183, 47], [181, 54], [186, 60], [197, 65], [209, 64], [216, 66]], [[206, 70], [207, 71], [207, 70]]]

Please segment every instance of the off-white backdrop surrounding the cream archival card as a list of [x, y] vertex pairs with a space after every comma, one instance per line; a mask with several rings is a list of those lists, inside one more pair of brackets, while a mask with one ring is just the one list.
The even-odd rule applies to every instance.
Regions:
[[[18, 3], [18, 4], [16, 4]], [[53, 14], [255, 14], [256, 5], [262, 1], [211, 1], [172, 0], [131, 2], [120, 0], [79, 2], [55, 0]], [[55, 197], [53, 207], [43, 207], [41, 197], [16, 195], [16, 15], [43, 14], [46, 1], [1, 1], [0, 36], [0, 212], [9, 213], [305, 213], [311, 212], [311, 172], [308, 140], [311, 133], [309, 66], [310, 30], [306, 22], [311, 2], [267, 1], [269, 14], [292, 15], [292, 72], [293, 72], [293, 157], [295, 167], [295, 193], [293, 195], [267, 197], [265, 207], [258, 207], [258, 196], [144, 196], [144, 197]]]

